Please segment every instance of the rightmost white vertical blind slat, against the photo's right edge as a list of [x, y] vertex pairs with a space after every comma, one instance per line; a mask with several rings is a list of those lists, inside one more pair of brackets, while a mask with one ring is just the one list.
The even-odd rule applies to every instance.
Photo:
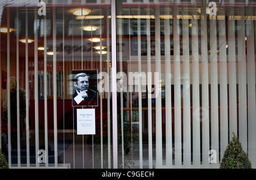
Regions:
[[[253, 13], [253, 11], [250, 11]], [[248, 86], [248, 155], [252, 168], [256, 168], [256, 110], [255, 110], [255, 39], [254, 21], [250, 20], [247, 32], [247, 86]]]

